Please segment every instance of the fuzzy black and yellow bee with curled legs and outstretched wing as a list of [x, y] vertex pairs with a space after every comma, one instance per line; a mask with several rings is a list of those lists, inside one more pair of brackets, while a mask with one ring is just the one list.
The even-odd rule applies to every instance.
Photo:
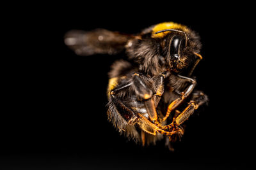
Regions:
[[184, 122], [208, 101], [191, 76], [202, 60], [200, 37], [186, 25], [163, 22], [139, 34], [74, 30], [65, 44], [84, 56], [123, 52], [108, 73], [108, 120], [143, 146], [165, 137], [172, 150]]

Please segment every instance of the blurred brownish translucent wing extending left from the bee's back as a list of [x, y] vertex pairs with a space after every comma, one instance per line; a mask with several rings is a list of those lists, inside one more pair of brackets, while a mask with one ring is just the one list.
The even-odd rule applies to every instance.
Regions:
[[93, 55], [120, 53], [125, 49], [127, 41], [133, 36], [106, 29], [93, 31], [72, 30], [65, 34], [65, 44], [77, 55]]

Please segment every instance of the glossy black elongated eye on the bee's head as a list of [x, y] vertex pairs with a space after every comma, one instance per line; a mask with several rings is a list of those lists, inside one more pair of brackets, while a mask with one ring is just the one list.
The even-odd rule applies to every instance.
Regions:
[[179, 58], [180, 48], [183, 45], [184, 39], [180, 36], [173, 36], [170, 42], [170, 56], [174, 58]]

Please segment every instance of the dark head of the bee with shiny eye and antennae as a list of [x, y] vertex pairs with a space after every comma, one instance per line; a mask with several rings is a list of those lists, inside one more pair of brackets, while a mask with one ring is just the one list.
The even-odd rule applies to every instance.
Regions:
[[[166, 59], [166, 63], [172, 71], [180, 73], [189, 69], [190, 66], [194, 66], [202, 57], [198, 55], [200, 52], [199, 38], [192, 31], [179, 31], [173, 29], [163, 30], [168, 31], [169, 34], [160, 41], [163, 41], [162, 53]], [[159, 31], [155, 34], [159, 34]], [[197, 63], [196, 63], [197, 64]], [[189, 70], [191, 72], [193, 70]]]

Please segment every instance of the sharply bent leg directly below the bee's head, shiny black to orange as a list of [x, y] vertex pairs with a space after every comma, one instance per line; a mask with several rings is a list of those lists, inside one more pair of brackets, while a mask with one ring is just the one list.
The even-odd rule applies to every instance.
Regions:
[[179, 74], [177, 76], [181, 79], [189, 81], [191, 83], [191, 85], [189, 85], [189, 87], [187, 87], [187, 89], [184, 90], [184, 92], [180, 93], [180, 97], [178, 99], [175, 99], [175, 101], [173, 101], [171, 104], [169, 104], [168, 109], [166, 111], [166, 115], [163, 118], [163, 121], [169, 117], [171, 111], [173, 111], [177, 106], [179, 106], [179, 104], [182, 103], [182, 101], [184, 101], [184, 99], [186, 99], [189, 96], [189, 94], [191, 94], [191, 92], [193, 91], [193, 89], [195, 88], [195, 85], [196, 85], [196, 81], [192, 78], [180, 76]]

